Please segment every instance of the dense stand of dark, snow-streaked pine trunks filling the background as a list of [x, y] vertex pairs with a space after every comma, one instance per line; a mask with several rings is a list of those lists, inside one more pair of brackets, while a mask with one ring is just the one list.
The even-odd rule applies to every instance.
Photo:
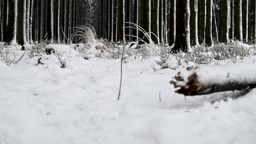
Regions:
[[85, 24], [112, 42], [142, 39], [131, 23], [176, 50], [230, 39], [247, 42], [256, 37], [256, 1], [0, 0], [0, 41], [7, 44], [66, 43], [75, 27]]

